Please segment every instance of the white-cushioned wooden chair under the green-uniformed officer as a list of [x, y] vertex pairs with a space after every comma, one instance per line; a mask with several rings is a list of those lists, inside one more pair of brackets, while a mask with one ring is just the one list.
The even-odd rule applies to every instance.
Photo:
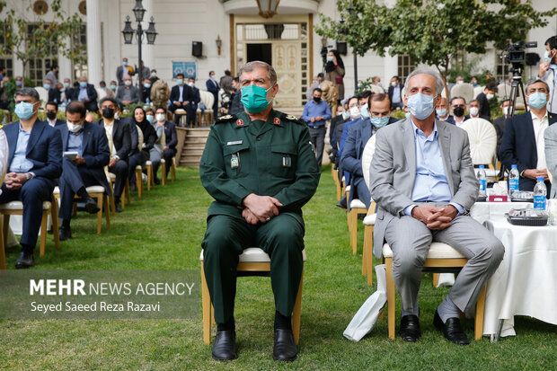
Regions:
[[[304, 262], [306, 261], [305, 250], [302, 252]], [[201, 261], [201, 305], [203, 307], [203, 341], [208, 344], [211, 340], [211, 321], [214, 319], [213, 305], [205, 280], [205, 271], [203, 270], [203, 251], [199, 256]], [[240, 255], [238, 262], [238, 277], [248, 276], [270, 276], [270, 257], [259, 247], [251, 247], [245, 249]], [[302, 314], [302, 284], [304, 282], [304, 270], [302, 270], [302, 278], [300, 279], [300, 287], [296, 296], [296, 304], [292, 313], [292, 331], [294, 332], [294, 340], [299, 344], [300, 340], [300, 316]]]

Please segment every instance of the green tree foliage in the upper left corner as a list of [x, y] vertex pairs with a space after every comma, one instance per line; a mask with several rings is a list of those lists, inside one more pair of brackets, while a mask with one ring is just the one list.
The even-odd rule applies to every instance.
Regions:
[[[60, 6], [60, 1], [49, 2], [51, 21], [46, 21], [41, 15], [29, 18], [33, 16], [31, 14], [35, 14], [32, 9], [33, 2], [29, 0], [22, 0], [22, 8], [25, 9], [23, 13], [18, 12], [18, 6], [8, 7], [4, 18], [0, 20], [0, 31], [3, 31], [4, 40], [0, 45], [0, 53], [13, 54], [21, 60], [23, 71], [27, 63], [37, 56], [61, 54], [76, 63], [84, 62], [81, 52], [85, 46], [72, 46], [69, 40], [69, 37], [80, 31], [81, 17], [77, 13], [68, 15]], [[6, 7], [4, 0], [0, 0], [0, 4]]]

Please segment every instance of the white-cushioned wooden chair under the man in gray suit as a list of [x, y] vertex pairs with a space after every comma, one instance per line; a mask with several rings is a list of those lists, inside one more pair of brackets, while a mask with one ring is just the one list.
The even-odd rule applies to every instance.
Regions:
[[[389, 338], [394, 339], [395, 320], [395, 287], [393, 280], [393, 251], [388, 243], [383, 245], [383, 259], [386, 266], [387, 278], [387, 317], [389, 322]], [[431, 243], [423, 271], [436, 273], [458, 273], [468, 262], [463, 254], [457, 252], [446, 243]], [[474, 323], [475, 340], [482, 339], [483, 332], [483, 310], [485, 306], [485, 287], [476, 303], [476, 316]]]

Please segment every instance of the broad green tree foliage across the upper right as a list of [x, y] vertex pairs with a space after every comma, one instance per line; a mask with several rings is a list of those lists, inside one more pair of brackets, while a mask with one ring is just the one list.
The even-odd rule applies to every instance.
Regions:
[[435, 66], [445, 82], [456, 53], [484, 54], [488, 42], [504, 49], [508, 40], [525, 41], [528, 31], [557, 14], [557, 7], [537, 12], [531, 0], [396, 0], [392, 7], [338, 0], [337, 8], [340, 21], [320, 13], [314, 27], [319, 35], [346, 40], [360, 56], [368, 50], [382, 57], [409, 55]]

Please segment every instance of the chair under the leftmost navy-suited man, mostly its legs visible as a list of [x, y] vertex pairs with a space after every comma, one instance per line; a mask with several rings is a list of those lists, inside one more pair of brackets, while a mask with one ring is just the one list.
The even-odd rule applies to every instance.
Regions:
[[[59, 231], [58, 231], [58, 204], [53, 201], [44, 201], [42, 203], [42, 219], [40, 221], [40, 256], [44, 256], [45, 247], [47, 245], [47, 220], [49, 214], [52, 217], [52, 233], [54, 234], [54, 245], [60, 248]], [[10, 216], [23, 215], [23, 204], [21, 201], [10, 201], [0, 204], [0, 216], [2, 218], [2, 238], [0, 238], [0, 269], [5, 269], [5, 241], [10, 227]]]

